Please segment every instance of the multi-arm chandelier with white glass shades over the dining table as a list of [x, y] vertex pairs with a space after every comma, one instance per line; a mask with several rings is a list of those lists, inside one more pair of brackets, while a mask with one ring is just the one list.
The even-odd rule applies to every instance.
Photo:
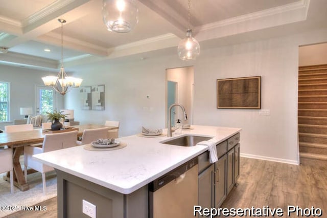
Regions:
[[61, 23], [61, 67], [57, 76], [46, 76], [42, 77], [45, 86], [52, 86], [52, 88], [59, 94], [65, 95], [71, 90], [71, 88], [78, 88], [82, 79], [67, 76], [66, 71], [63, 67], [63, 37], [62, 37], [62, 26], [66, 23], [64, 19], [58, 19]]

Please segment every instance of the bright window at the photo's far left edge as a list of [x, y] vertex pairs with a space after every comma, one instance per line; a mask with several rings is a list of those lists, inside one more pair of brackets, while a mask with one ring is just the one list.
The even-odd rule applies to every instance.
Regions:
[[0, 82], [0, 122], [9, 121], [9, 82]]

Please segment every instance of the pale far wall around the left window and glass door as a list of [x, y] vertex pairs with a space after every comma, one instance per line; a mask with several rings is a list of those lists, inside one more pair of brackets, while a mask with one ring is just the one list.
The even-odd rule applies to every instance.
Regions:
[[[22, 119], [20, 107], [32, 107], [35, 114], [35, 85], [43, 85], [42, 76], [49, 72], [0, 65], [0, 81], [9, 82], [10, 121]], [[63, 98], [57, 98], [58, 107], [63, 107]], [[59, 108], [58, 108], [59, 109]], [[0, 123], [0, 129], [12, 123]]]

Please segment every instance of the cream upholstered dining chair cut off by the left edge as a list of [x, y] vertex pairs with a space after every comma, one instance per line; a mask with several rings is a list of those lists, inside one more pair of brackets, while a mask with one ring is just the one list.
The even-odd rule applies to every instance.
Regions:
[[10, 173], [10, 191], [14, 193], [14, 175], [13, 175], [13, 165], [12, 165], [12, 148], [0, 147], [0, 173], [8, 172]]

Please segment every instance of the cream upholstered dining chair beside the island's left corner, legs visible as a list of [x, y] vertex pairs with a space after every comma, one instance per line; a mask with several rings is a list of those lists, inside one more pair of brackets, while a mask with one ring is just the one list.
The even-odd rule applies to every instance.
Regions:
[[25, 180], [27, 181], [27, 167], [31, 167], [32, 169], [41, 172], [43, 183], [43, 195], [45, 195], [45, 172], [53, 171], [54, 168], [32, 159], [32, 156], [36, 154], [41, 154], [43, 152], [76, 146], [76, 139], [77, 131], [45, 134], [42, 147], [26, 146], [24, 148]]

